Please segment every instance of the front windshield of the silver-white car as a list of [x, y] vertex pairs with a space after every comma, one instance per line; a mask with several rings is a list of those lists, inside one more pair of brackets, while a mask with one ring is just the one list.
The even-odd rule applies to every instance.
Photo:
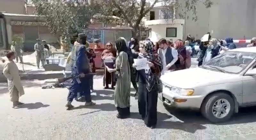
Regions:
[[202, 65], [202, 68], [237, 74], [244, 70], [255, 57], [256, 53], [227, 51], [212, 58]]

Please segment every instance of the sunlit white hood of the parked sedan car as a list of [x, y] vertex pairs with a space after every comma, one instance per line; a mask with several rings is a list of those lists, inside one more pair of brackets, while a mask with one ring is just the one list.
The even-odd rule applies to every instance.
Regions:
[[[223, 82], [227, 83], [229, 82], [228, 79], [233, 79], [230, 79], [230, 77], [233, 76], [236, 75], [213, 70], [206, 70], [197, 67], [192, 69], [167, 72], [164, 73], [160, 79], [167, 85], [188, 89], [199, 86], [220, 84]], [[221, 79], [225, 79], [225, 81], [221, 81]]]

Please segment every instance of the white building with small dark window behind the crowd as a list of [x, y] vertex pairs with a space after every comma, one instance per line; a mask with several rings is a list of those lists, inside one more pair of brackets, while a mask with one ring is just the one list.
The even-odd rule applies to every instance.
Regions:
[[144, 19], [145, 26], [149, 28], [151, 41], [155, 42], [161, 38], [178, 40], [183, 38], [184, 19], [172, 19], [174, 14], [166, 10], [161, 3], [156, 3]]

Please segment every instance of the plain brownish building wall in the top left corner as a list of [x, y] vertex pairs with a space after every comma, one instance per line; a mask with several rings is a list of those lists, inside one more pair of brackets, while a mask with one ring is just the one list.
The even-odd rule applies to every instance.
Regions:
[[0, 12], [26, 14], [24, 0], [0, 0]]

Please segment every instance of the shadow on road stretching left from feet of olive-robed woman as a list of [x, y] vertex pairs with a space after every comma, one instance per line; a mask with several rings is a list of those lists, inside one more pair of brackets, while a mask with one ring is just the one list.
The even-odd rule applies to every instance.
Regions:
[[82, 108], [100, 109], [100, 111], [115, 111], [116, 110], [115, 105], [110, 104], [110, 103], [107, 103], [107, 104], [96, 104], [96, 105], [93, 105], [93, 106], [78, 106], [78, 107], [72, 108], [72, 110], [74, 110], [74, 109], [82, 109]]

